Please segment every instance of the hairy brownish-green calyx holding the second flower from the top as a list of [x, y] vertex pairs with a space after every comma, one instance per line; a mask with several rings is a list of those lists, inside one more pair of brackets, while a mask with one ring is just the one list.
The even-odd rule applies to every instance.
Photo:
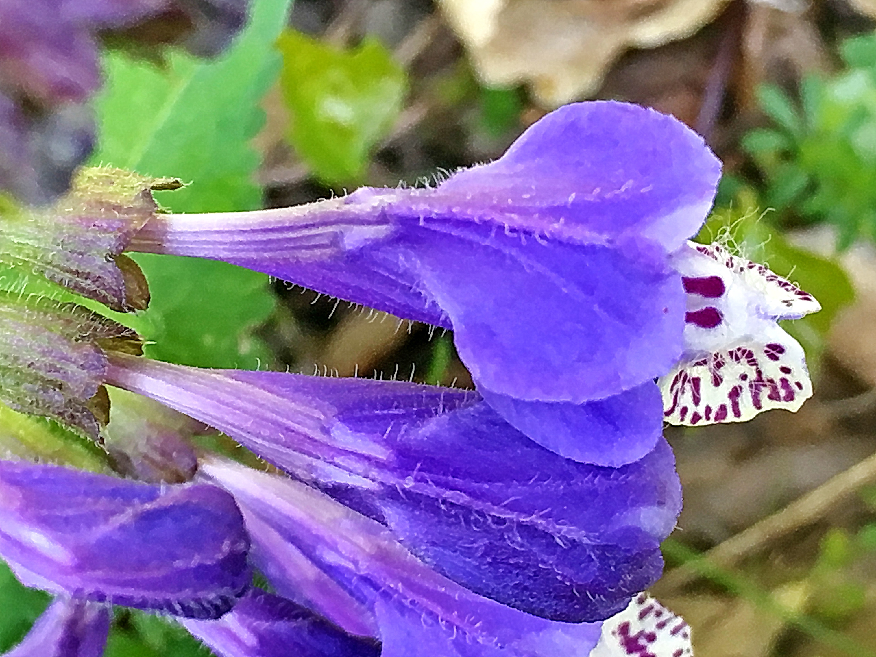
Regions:
[[0, 293], [0, 401], [97, 438], [109, 417], [106, 352], [139, 355], [139, 336], [72, 303]]

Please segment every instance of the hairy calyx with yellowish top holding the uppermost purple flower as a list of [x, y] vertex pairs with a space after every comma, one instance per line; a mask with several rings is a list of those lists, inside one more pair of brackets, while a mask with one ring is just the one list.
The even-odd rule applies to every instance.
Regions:
[[122, 251], [159, 211], [152, 190], [178, 187], [180, 180], [83, 169], [53, 207], [0, 213], [0, 264], [24, 266], [118, 312], [143, 310], [149, 287]]

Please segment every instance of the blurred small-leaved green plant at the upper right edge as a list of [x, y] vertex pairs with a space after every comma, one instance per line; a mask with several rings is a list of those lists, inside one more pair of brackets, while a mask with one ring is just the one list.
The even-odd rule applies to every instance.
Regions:
[[774, 127], [742, 141], [783, 223], [830, 223], [837, 246], [876, 238], [876, 35], [845, 41], [845, 69], [806, 76], [799, 104], [781, 88], [759, 89]]

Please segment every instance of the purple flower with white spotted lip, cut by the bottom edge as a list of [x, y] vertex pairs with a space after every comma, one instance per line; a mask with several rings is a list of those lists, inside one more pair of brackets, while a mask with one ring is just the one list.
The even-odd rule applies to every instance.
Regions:
[[[604, 624], [536, 618], [436, 574], [383, 526], [306, 485], [215, 458], [202, 473], [237, 498], [252, 555], [278, 590], [350, 632], [373, 634], [383, 657], [692, 654], [687, 625], [644, 595]], [[219, 623], [186, 625], [195, 631]]]

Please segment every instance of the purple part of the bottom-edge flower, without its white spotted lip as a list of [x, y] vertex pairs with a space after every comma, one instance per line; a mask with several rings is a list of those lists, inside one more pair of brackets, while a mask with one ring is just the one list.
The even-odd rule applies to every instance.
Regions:
[[557, 623], [477, 596], [300, 482], [217, 459], [202, 471], [237, 498], [257, 547], [267, 527], [374, 611], [385, 657], [586, 657], [597, 644], [599, 623]]

